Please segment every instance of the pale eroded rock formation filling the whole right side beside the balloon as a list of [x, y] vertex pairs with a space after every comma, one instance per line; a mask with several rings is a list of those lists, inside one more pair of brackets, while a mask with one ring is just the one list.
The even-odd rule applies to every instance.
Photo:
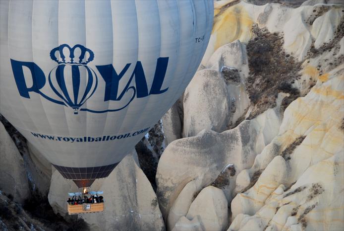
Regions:
[[211, 215], [188, 214], [212, 186], [230, 205], [218, 230], [344, 229], [340, 3], [216, 2], [210, 44], [174, 117], [183, 122], [164, 124], [183, 131], [156, 176], [168, 230], [206, 230]]

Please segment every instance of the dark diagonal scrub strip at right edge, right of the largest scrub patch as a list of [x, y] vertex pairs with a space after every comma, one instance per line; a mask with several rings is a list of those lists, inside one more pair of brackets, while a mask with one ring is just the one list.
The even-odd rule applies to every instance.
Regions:
[[[321, 47], [319, 47], [318, 49], [316, 49], [314, 47], [314, 41], [312, 42], [311, 48], [309, 49], [308, 53], [307, 53], [307, 59], [310, 58], [315, 58], [318, 55], [323, 54], [324, 52], [329, 52], [332, 49], [334, 49], [334, 53], [333, 55], [337, 55], [337, 53], [340, 50], [340, 41], [344, 36], [344, 16], [341, 18], [341, 22], [339, 23], [339, 25], [337, 26], [336, 32], [335, 32], [335, 36], [334, 38], [329, 41], [328, 43], [324, 43]], [[334, 57], [333, 59], [329, 60], [329, 65], [333, 66], [333, 67], [337, 67], [340, 64], [344, 63], [344, 55], [341, 55], [340, 57], [336, 58]]]

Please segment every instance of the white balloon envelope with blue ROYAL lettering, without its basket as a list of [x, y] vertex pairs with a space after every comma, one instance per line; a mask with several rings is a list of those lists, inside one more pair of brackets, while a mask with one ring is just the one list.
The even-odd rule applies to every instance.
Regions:
[[88, 187], [183, 93], [213, 10], [213, 0], [1, 0], [0, 112]]

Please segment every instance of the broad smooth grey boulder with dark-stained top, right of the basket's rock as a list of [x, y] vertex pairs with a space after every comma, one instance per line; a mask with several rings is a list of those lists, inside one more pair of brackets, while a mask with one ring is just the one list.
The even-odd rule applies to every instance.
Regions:
[[[267, 116], [270, 123], [264, 119]], [[271, 109], [223, 133], [203, 130], [197, 136], [173, 141], [160, 157], [156, 175], [157, 195], [168, 227], [172, 229], [186, 216], [193, 195], [211, 184], [231, 201], [237, 173], [253, 164], [252, 159], [271, 142], [279, 125]]]

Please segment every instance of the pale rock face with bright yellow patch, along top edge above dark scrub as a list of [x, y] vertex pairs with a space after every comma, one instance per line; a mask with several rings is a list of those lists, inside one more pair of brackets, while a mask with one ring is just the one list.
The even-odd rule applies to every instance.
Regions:
[[213, 31], [203, 65], [219, 47], [237, 39], [247, 43], [252, 37], [253, 24], [267, 27], [271, 33], [283, 32], [284, 49], [302, 61], [312, 46], [319, 49], [324, 43], [333, 41], [344, 15], [341, 5], [288, 8], [280, 4], [258, 6], [244, 1], [222, 0], [215, 2], [214, 7]]

